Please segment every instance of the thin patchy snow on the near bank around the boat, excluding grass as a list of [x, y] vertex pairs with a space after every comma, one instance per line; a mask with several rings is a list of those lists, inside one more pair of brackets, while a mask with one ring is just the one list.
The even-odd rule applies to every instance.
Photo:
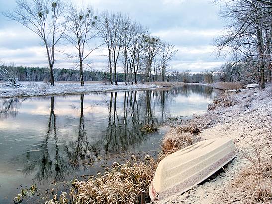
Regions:
[[[251, 151], [252, 146], [250, 143], [257, 139], [267, 148], [268, 154], [272, 157], [272, 150], [268, 146], [271, 141], [268, 141], [268, 130], [264, 126], [264, 121], [271, 117], [271, 93], [271, 87], [261, 91], [256, 88], [242, 90], [238, 94], [232, 93], [231, 96], [236, 102], [234, 106], [217, 107], [215, 110], [208, 111], [200, 117], [200, 120], [203, 123], [208, 123], [207, 126], [210, 128], [204, 129], [197, 137], [200, 140], [229, 137], [234, 141], [237, 149], [242, 152]], [[233, 179], [247, 165], [249, 165], [249, 161], [238, 154], [225, 167], [225, 170], [221, 170], [221, 173], [213, 175], [204, 183], [184, 194], [177, 194], [155, 203], [224, 203], [220, 201], [224, 189], [229, 188]]]

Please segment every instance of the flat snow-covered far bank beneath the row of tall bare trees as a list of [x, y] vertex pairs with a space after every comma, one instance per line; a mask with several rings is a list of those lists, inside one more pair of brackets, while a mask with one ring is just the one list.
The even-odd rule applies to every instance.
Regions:
[[26, 96], [44, 96], [58, 94], [78, 94], [88, 92], [103, 92], [103, 91], [121, 91], [121, 90], [138, 90], [138, 89], [153, 89], [161, 86], [155, 84], [137, 84], [125, 85], [106, 85], [102, 82], [86, 83], [83, 87], [78, 82], [56, 82], [55, 86], [44, 82], [21, 82], [25, 87], [12, 88], [5, 87], [4, 82], [0, 82], [0, 98], [4, 97], [26, 97]]

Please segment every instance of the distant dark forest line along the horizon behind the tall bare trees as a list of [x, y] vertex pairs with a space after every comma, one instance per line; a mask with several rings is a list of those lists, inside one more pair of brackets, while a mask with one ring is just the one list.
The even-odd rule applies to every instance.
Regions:
[[[49, 82], [50, 80], [50, 70], [44, 67], [23, 67], [23, 66], [0, 66], [9, 72], [10, 77], [18, 79], [18, 81], [44, 81]], [[54, 78], [56, 81], [80, 81], [80, 70], [76, 69], [54, 69]], [[193, 82], [193, 83], [209, 83], [213, 84], [218, 81], [224, 82], [242, 82], [247, 83], [257, 83], [258, 76], [257, 73], [253, 71], [251, 74], [247, 74], [248, 70], [245, 70], [243, 64], [238, 64], [233, 66], [233, 64], [228, 63], [220, 68], [210, 71], [204, 71], [200, 73], [192, 73], [190, 70], [178, 72], [176, 70], [166, 74], [165, 81], [176, 81], [176, 82]], [[266, 74], [266, 81], [269, 74]], [[151, 75], [152, 81], [162, 81], [161, 74]], [[110, 72], [102, 72], [98, 70], [85, 70], [83, 71], [84, 81], [110, 81]], [[146, 82], [147, 77], [144, 72], [137, 73], [136, 75], [138, 82]], [[1, 78], [0, 80], [4, 80]], [[122, 72], [117, 72], [118, 82], [125, 82], [125, 74]], [[133, 80], [132, 80], [133, 81]]]

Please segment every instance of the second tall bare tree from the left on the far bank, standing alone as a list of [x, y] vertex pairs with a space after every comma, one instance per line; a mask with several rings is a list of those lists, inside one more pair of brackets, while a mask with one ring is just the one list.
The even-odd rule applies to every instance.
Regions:
[[95, 23], [97, 16], [94, 14], [92, 8], [86, 9], [83, 6], [77, 8], [75, 5], [70, 5], [67, 12], [67, 32], [65, 38], [76, 49], [78, 54], [68, 54], [71, 58], [77, 58], [79, 60], [80, 67], [80, 84], [84, 86], [83, 79], [83, 66], [84, 61], [89, 57], [94, 49], [85, 51], [86, 47], [90, 47], [90, 41], [96, 36]]

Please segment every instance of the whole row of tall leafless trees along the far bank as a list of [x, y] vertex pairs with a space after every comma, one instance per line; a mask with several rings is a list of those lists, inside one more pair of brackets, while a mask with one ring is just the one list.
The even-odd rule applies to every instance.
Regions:
[[126, 84], [137, 84], [138, 72], [145, 73], [146, 80], [152, 81], [159, 71], [161, 80], [167, 80], [169, 61], [177, 50], [169, 42], [151, 36], [148, 29], [127, 15], [96, 12], [89, 5], [76, 6], [64, 0], [17, 0], [16, 5], [14, 10], [3, 14], [41, 38], [51, 85], [54, 85], [56, 47], [63, 43], [75, 49], [66, 49], [64, 53], [78, 62], [81, 86], [84, 86], [83, 69], [90, 68], [90, 54], [99, 47], [107, 51], [111, 84], [118, 85], [117, 69], [121, 67]]

